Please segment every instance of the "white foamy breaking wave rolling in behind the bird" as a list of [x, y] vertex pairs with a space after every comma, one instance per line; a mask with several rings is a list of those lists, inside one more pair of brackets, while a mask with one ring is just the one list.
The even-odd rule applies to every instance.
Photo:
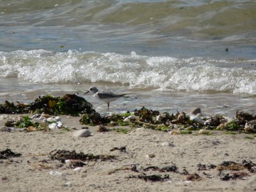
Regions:
[[256, 95], [256, 60], [141, 56], [136, 52], [0, 52], [0, 77], [31, 83], [107, 82], [160, 90]]

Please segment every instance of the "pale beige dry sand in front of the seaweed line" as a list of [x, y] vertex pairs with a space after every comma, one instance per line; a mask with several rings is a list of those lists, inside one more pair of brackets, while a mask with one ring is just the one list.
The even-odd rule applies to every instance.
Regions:
[[[68, 127], [77, 127], [79, 118], [62, 116]], [[3, 124], [3, 122], [1, 122]], [[116, 127], [115, 127], [116, 128]], [[76, 138], [72, 131], [0, 132], [0, 151], [10, 148], [21, 157], [0, 159], [0, 191], [256, 191], [256, 174], [247, 170], [243, 179], [221, 180], [218, 170], [198, 170], [197, 164], [215, 164], [223, 161], [243, 160], [256, 163], [256, 140], [247, 134], [212, 135], [168, 134], [150, 129], [140, 129], [128, 134], [109, 131], [97, 132], [90, 127], [92, 136]], [[169, 142], [170, 146], [161, 143]], [[126, 147], [126, 152], [110, 151], [114, 147]], [[52, 150], [76, 150], [84, 154], [109, 154], [117, 156], [112, 161], [86, 162], [81, 170], [68, 168], [58, 160], [51, 160]], [[154, 153], [156, 157], [145, 157]], [[127, 164], [136, 164], [140, 172], [133, 172]], [[177, 166], [178, 172], [143, 171], [148, 166]], [[120, 170], [118, 170], [120, 168]], [[126, 169], [125, 169], [126, 168]], [[180, 174], [186, 169], [197, 173], [200, 180], [188, 181]], [[51, 175], [52, 172], [61, 175]], [[152, 182], [138, 177], [169, 175], [169, 179]], [[223, 175], [222, 175], [223, 176]]]

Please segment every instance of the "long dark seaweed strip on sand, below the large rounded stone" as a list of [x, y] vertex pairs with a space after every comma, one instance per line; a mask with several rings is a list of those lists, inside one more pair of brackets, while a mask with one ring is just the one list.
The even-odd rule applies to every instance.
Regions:
[[77, 153], [76, 150], [52, 150], [49, 157], [51, 157], [52, 160], [57, 159], [59, 161], [63, 161], [63, 159], [79, 159], [81, 161], [108, 161], [116, 159], [116, 156], [84, 154], [83, 152]]

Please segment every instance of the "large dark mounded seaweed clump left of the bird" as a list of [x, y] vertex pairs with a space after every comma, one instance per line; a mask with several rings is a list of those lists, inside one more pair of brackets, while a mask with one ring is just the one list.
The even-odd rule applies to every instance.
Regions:
[[0, 104], [0, 113], [6, 114], [24, 114], [24, 113], [47, 113], [49, 115], [74, 115], [79, 113], [92, 113], [95, 110], [90, 102], [87, 102], [83, 97], [79, 97], [76, 94], [67, 94], [63, 97], [52, 97], [51, 95], [45, 95], [38, 97], [35, 102], [30, 104], [17, 105], [7, 100], [4, 104]]

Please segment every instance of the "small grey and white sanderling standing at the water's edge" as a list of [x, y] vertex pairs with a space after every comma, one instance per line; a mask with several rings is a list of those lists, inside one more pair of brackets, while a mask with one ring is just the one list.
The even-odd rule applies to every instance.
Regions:
[[[108, 104], [108, 108], [109, 108], [109, 102], [112, 102], [120, 97], [123, 97], [125, 94], [115, 94], [112, 92], [99, 92], [99, 90], [93, 86], [90, 87], [88, 92], [89, 93], [92, 92], [93, 93], [93, 97], [96, 97], [98, 100], [102, 100], [103, 102], [106, 102]], [[84, 93], [84, 95], [86, 94]]]

